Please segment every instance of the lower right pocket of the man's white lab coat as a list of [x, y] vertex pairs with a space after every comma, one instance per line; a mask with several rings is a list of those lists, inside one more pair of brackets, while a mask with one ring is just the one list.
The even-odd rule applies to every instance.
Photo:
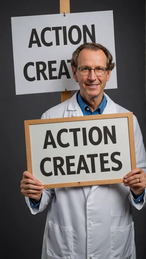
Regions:
[[110, 259], [129, 259], [134, 245], [134, 222], [122, 227], [111, 227]]

